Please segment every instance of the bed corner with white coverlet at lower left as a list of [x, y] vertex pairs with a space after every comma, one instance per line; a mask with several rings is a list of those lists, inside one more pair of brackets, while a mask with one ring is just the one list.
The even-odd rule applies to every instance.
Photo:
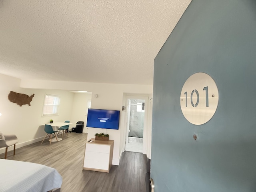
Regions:
[[57, 192], [61, 184], [62, 176], [54, 168], [0, 159], [1, 192]]

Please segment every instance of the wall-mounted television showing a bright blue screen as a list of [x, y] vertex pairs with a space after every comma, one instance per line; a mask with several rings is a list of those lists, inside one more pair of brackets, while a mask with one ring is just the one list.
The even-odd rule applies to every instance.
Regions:
[[120, 111], [106, 109], [88, 109], [87, 127], [118, 129]]

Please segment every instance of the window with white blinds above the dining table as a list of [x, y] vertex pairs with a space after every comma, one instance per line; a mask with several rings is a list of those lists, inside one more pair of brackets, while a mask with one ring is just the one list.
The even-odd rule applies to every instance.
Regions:
[[46, 94], [44, 99], [43, 116], [57, 115], [60, 105], [60, 96]]

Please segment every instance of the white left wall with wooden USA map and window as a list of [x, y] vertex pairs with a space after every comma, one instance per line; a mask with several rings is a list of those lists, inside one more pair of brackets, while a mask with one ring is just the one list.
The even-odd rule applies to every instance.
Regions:
[[[35, 94], [31, 106], [19, 106], [8, 100], [10, 91], [23, 93], [27, 95]], [[45, 94], [54, 94], [60, 96], [60, 108], [58, 116], [42, 117], [42, 109]], [[72, 105], [74, 93], [63, 90], [41, 90], [20, 88], [20, 79], [0, 74], [0, 131], [4, 134], [16, 134], [18, 137], [17, 148], [38, 142], [45, 136], [44, 126], [40, 126], [49, 122], [62, 121], [71, 119]], [[12, 150], [8, 148], [8, 151]], [[0, 153], [4, 152], [4, 148], [0, 149]]]

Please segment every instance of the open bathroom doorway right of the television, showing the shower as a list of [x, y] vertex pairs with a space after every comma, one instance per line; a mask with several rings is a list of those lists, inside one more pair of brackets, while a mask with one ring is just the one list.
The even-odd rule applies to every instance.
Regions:
[[128, 98], [125, 150], [143, 152], [143, 135], [145, 121], [145, 100]]

